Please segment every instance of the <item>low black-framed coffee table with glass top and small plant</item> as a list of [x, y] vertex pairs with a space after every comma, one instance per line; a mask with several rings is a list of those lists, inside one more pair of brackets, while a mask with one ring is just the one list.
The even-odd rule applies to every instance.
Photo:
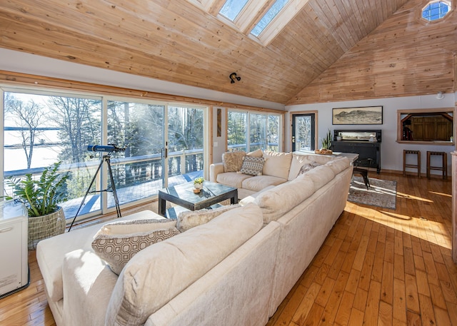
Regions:
[[166, 201], [188, 210], [201, 210], [226, 199], [230, 199], [231, 204], [238, 203], [238, 189], [205, 181], [200, 193], [194, 193], [194, 182], [191, 181], [159, 190], [159, 215], [166, 216]]

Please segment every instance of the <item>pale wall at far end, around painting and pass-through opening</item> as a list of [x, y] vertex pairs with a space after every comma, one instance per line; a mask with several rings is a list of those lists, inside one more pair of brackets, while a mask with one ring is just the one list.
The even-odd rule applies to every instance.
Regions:
[[[403, 170], [403, 149], [421, 151], [421, 170], [426, 173], [426, 152], [427, 151], [445, 151], [450, 153], [454, 151], [454, 146], [438, 146], [431, 143], [430, 145], [416, 145], [397, 143], [397, 111], [401, 109], [415, 108], [454, 108], [457, 93], [446, 93], [441, 100], [436, 95], [428, 96], [410, 96], [401, 98], [381, 98], [361, 101], [342, 101], [332, 103], [314, 103], [302, 104], [296, 106], [286, 106], [288, 111], [286, 121], [290, 121], [291, 113], [294, 111], [318, 111], [318, 146], [321, 146], [323, 138], [328, 128], [332, 134], [334, 129], [381, 129], [381, 170]], [[333, 126], [332, 125], [332, 108], [349, 108], [358, 106], [383, 106], [383, 124], [382, 125], [352, 125], [352, 126]], [[286, 123], [286, 151], [291, 151], [291, 126]], [[436, 158], [438, 160], [438, 157]], [[438, 161], [432, 161], [432, 165], [441, 165]], [[432, 171], [432, 173], [441, 173]], [[451, 175], [451, 156], [448, 155], [448, 175]]]

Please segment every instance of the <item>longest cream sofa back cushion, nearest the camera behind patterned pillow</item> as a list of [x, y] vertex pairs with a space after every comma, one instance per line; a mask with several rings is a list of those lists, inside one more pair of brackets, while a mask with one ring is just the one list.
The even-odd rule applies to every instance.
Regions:
[[119, 275], [105, 325], [146, 319], [262, 228], [257, 205], [229, 210], [204, 225], [141, 250]]

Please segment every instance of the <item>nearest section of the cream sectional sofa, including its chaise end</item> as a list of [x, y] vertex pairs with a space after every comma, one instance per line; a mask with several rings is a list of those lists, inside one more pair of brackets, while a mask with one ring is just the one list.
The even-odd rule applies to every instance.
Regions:
[[[46, 290], [54, 294], [55, 300], [51, 295], [48, 299], [56, 325], [144, 325], [149, 317], [149, 322], [154, 321], [151, 325], [182, 325], [178, 320], [193, 319], [201, 320], [200, 325], [214, 325], [214, 320], [229, 316], [233, 323], [246, 320], [245, 325], [268, 320], [279, 227], [273, 223], [263, 228], [257, 205], [233, 208], [141, 250], [119, 277], [86, 245], [99, 228], [65, 233], [39, 245], [40, 268], [53, 266], [42, 268], [42, 273], [45, 282], [57, 285]], [[65, 249], [59, 252], [59, 247]], [[265, 270], [258, 272], [258, 268]], [[189, 287], [194, 290], [189, 292]], [[180, 299], [174, 300], [178, 295]], [[212, 297], [211, 307], [217, 307], [219, 314], [210, 312], [205, 297]], [[244, 297], [249, 303], [235, 300], [227, 305], [230, 297]], [[187, 304], [179, 306], [183, 299], [190, 300], [192, 309]], [[176, 304], [178, 311], [174, 310]], [[237, 314], [233, 313], [235, 306]], [[170, 307], [174, 307], [171, 315]], [[166, 322], [161, 322], [164, 318]]]

